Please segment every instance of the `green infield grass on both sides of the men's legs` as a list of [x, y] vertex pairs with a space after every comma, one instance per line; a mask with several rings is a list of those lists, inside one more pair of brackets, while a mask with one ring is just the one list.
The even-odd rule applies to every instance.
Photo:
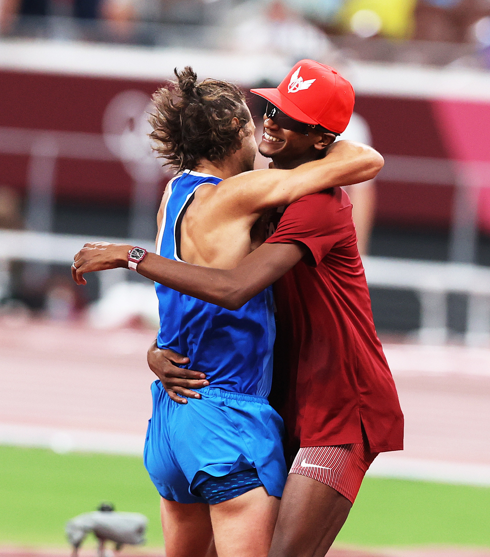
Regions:
[[[0, 543], [66, 544], [71, 517], [111, 501], [150, 519], [162, 546], [159, 495], [141, 458], [0, 446]], [[339, 543], [490, 546], [490, 488], [366, 478]]]

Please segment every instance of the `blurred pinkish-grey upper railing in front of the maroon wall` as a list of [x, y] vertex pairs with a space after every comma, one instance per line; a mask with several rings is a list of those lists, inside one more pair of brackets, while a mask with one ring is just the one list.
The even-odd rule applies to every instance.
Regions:
[[[158, 183], [163, 171], [150, 154], [145, 133], [140, 134], [141, 130], [133, 133], [127, 127], [130, 114], [125, 112], [128, 106], [136, 103], [144, 120], [150, 97], [135, 91], [121, 95], [116, 95], [107, 110], [112, 119], [116, 118], [116, 128], [121, 125], [122, 128], [116, 130], [108, 126], [112, 131], [106, 129], [103, 134], [0, 127], [0, 153], [29, 156], [26, 228], [36, 231], [52, 229], [58, 158], [119, 160], [133, 181], [130, 234], [151, 237], [159, 201]], [[112, 102], [115, 103], [113, 106]], [[380, 180], [456, 187], [449, 259], [472, 263], [478, 244], [478, 192], [480, 188], [490, 187], [490, 163], [389, 154], [384, 158]]]

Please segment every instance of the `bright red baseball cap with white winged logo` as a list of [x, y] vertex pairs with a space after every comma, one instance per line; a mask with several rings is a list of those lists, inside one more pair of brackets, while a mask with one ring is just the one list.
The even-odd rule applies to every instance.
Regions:
[[314, 60], [300, 60], [277, 89], [251, 89], [284, 114], [341, 134], [354, 110], [354, 89], [339, 73]]

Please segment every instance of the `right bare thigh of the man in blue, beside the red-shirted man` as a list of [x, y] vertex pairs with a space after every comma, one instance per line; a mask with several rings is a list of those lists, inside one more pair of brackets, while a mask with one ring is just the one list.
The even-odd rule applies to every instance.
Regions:
[[234, 499], [210, 505], [217, 555], [266, 557], [279, 501], [278, 497], [268, 495], [264, 487], [256, 487]]

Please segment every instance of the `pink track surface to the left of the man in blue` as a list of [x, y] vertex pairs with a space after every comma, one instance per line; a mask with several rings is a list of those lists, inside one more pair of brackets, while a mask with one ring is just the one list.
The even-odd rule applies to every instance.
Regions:
[[0, 422], [144, 435], [155, 332], [0, 324]]

